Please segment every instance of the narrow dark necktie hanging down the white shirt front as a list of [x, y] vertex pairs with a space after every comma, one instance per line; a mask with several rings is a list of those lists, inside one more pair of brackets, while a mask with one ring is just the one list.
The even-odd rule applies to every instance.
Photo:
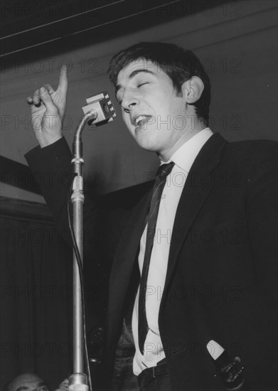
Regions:
[[162, 191], [166, 183], [166, 178], [171, 173], [173, 168], [173, 161], [168, 164], [162, 164], [156, 173], [154, 181], [154, 189], [151, 197], [151, 205], [148, 216], [148, 226], [146, 230], [146, 248], [144, 255], [144, 263], [140, 280], [139, 289], [139, 316], [138, 316], [138, 338], [139, 349], [144, 354], [144, 342], [146, 340], [146, 334], [148, 333], [148, 322], [146, 321], [146, 282], [149, 273], [149, 263], [151, 260], [151, 250], [154, 245], [154, 234], [156, 231], [156, 220], [159, 214], [159, 204], [161, 200]]

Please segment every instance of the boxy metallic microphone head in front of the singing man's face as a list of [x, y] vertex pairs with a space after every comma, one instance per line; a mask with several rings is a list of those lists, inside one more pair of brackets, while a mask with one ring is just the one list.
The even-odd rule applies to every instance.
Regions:
[[82, 107], [84, 114], [94, 110], [97, 112], [97, 118], [95, 121], [93, 119], [89, 120], [89, 125], [93, 123], [97, 127], [100, 127], [101, 125], [107, 124], [107, 122], [111, 122], [114, 118], [116, 118], [116, 112], [107, 91], [100, 92], [100, 94], [87, 98], [86, 102], [87, 105]]

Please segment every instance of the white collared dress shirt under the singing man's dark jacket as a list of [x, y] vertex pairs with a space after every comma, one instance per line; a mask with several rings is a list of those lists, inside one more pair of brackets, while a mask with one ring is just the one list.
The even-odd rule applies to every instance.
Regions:
[[[191, 169], [193, 161], [196, 159], [202, 146], [208, 141], [212, 134], [213, 132], [211, 132], [209, 128], [201, 130], [201, 132], [198, 132], [195, 136], [186, 141], [186, 143], [171, 156], [171, 159], [169, 159], [169, 161], [174, 162], [174, 166], [167, 177], [161, 195], [146, 286], [146, 319], [148, 321], [149, 331], [144, 344], [144, 355], [141, 354], [138, 343], [139, 289], [137, 291], [132, 314], [132, 333], [136, 348], [133, 362], [135, 375], [139, 375], [142, 370], [156, 365], [156, 363], [165, 358], [164, 348], [159, 334], [159, 306], [166, 279], [173, 222], [175, 220], [176, 209], [178, 208], [183, 186], [186, 183], [188, 171]], [[161, 162], [161, 164], [163, 163], [164, 162]], [[146, 228], [140, 241], [138, 257], [140, 273], [142, 272], [144, 262]]]

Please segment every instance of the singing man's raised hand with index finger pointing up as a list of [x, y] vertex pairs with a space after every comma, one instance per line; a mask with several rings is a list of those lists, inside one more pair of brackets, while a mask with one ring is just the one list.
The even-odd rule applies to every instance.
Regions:
[[63, 117], [67, 102], [67, 67], [62, 65], [57, 90], [46, 84], [28, 97], [31, 107], [32, 127], [38, 144], [48, 146], [62, 137]]

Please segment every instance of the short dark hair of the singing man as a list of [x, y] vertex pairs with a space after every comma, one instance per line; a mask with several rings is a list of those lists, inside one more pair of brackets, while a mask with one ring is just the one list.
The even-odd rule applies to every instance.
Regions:
[[121, 50], [109, 63], [108, 75], [114, 86], [117, 85], [119, 72], [135, 60], [145, 59], [158, 65], [168, 75], [177, 94], [181, 94], [181, 85], [193, 76], [198, 76], [205, 86], [200, 99], [194, 103], [196, 115], [208, 126], [210, 106], [210, 79], [203, 65], [191, 50], [173, 43], [141, 42]]

